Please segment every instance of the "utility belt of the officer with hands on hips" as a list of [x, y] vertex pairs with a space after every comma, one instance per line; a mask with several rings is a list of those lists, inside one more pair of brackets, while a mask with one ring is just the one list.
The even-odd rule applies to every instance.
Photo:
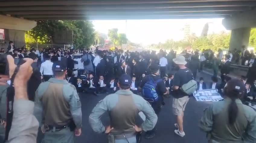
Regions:
[[119, 134], [119, 135], [113, 135], [113, 134], [108, 134], [108, 143], [115, 143], [115, 140], [127, 140], [127, 143], [129, 143], [128, 138], [136, 137], [136, 142], [141, 143], [142, 141], [142, 132], [136, 132], [136, 133], [129, 133], [129, 134]]

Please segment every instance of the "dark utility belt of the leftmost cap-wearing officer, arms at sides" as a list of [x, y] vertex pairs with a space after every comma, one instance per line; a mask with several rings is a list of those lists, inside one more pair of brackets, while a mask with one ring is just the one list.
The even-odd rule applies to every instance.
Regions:
[[75, 122], [73, 120], [71, 120], [68, 122], [68, 124], [63, 125], [63, 126], [52, 126], [52, 125], [47, 125], [47, 124], [43, 125], [45, 132], [48, 132], [48, 131], [58, 132], [58, 131], [68, 128], [68, 127], [69, 127], [70, 131], [74, 131], [76, 128]]

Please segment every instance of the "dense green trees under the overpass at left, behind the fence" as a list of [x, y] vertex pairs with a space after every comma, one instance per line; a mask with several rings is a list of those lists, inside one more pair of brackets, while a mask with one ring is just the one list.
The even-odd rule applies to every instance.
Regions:
[[37, 26], [25, 33], [26, 42], [52, 43], [55, 31], [72, 30], [75, 47], [91, 46], [94, 29], [91, 21], [37, 21]]

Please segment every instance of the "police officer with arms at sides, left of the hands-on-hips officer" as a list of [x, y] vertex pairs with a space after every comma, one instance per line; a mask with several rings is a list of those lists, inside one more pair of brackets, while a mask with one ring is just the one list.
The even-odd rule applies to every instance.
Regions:
[[42, 142], [74, 143], [75, 136], [81, 135], [81, 102], [75, 86], [64, 80], [66, 65], [59, 61], [52, 69], [55, 78], [41, 83], [35, 97], [34, 115], [42, 123]]

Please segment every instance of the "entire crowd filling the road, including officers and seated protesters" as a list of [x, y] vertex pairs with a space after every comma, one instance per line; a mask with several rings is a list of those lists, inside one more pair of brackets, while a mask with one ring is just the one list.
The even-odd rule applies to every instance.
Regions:
[[[231, 79], [228, 76], [231, 53], [225, 55], [225, 63], [220, 71], [221, 82], [217, 78], [223, 57], [221, 50], [217, 57], [211, 50], [191, 54], [183, 51], [178, 55], [174, 51], [167, 54], [164, 50], [159, 53], [130, 52], [117, 48], [100, 50], [98, 47], [94, 51], [53, 48], [40, 52], [32, 48], [28, 52], [26, 48], [16, 49], [10, 43], [8, 54], [12, 56], [8, 56], [9, 66], [17, 65], [21, 59], [25, 61], [19, 66], [23, 73], [19, 71], [14, 78], [15, 97], [23, 92], [24, 97], [14, 102], [12, 123], [17, 125], [26, 115], [30, 115], [27, 119], [31, 121], [31, 125], [23, 121], [23, 127], [19, 126], [21, 129], [16, 130], [17, 126], [11, 126], [9, 137], [5, 137], [11, 142], [17, 142], [20, 134], [30, 137], [23, 138], [22, 142], [35, 142], [38, 127], [39, 132], [44, 134], [42, 142], [75, 142], [75, 136], [82, 132], [83, 105], [79, 98], [82, 93], [95, 96], [109, 94], [89, 116], [91, 128], [95, 132], [106, 133], [109, 142], [139, 143], [142, 131], [146, 132], [145, 138], [153, 138], [158, 115], [170, 95], [173, 97], [172, 110], [177, 121], [174, 133], [184, 137], [184, 111], [191, 97], [188, 91], [192, 87], [197, 87], [194, 90], [218, 89], [224, 97], [223, 101], [207, 108], [200, 120], [200, 129], [207, 133], [209, 142], [256, 141], [256, 113], [247, 106], [250, 102], [256, 104], [256, 79], [248, 80], [246, 76]], [[207, 65], [206, 61], [212, 61], [214, 71], [209, 86], [203, 77], [194, 83], [197, 72]], [[255, 62], [251, 67], [255, 67]], [[24, 73], [28, 68], [31, 72]], [[18, 88], [20, 80], [24, 80], [22, 83], [26, 86], [23, 88], [28, 90]], [[7, 107], [7, 103], [4, 103], [9, 88], [6, 81], [2, 81], [1, 104]], [[18, 109], [21, 103], [33, 105], [28, 110], [30, 112]], [[31, 112], [33, 109], [34, 113]], [[105, 112], [110, 115], [109, 126], [103, 126], [100, 120]], [[6, 111], [1, 112], [2, 124], [6, 123], [5, 114]]]

